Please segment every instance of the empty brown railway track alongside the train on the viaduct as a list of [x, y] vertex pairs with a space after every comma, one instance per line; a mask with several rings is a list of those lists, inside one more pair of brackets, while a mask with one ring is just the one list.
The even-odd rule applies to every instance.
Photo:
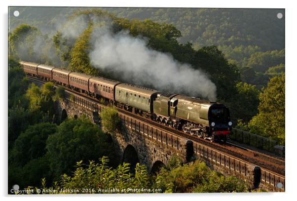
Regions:
[[[35, 77], [31, 77], [31, 76], [27, 76], [29, 79], [33, 80], [34, 82], [36, 82], [38, 85], [39, 84], [43, 84], [45, 83], [45, 81], [42, 81], [42, 80], [39, 80]], [[77, 92], [77, 91], [73, 91], [69, 88], [65, 88], [65, 90], [71, 92], [71, 93], [74, 93], [76, 95], [79, 95], [79, 96], [82, 96], [86, 99], [89, 99], [89, 100], [92, 100], [98, 104], [101, 104], [99, 103], [99, 101], [93, 97], [90, 97], [90, 96], [87, 96], [86, 94], [84, 93], [81, 93], [81, 92]], [[103, 104], [101, 104], [103, 105]], [[105, 105], [106, 106], [106, 105]], [[222, 152], [224, 154], [227, 154], [227, 155], [230, 155], [238, 160], [241, 160], [241, 161], [247, 161], [249, 163], [252, 163], [254, 165], [258, 165], [260, 166], [261, 168], [264, 168], [266, 170], [269, 170], [269, 171], [272, 171], [276, 174], [279, 174], [281, 176], [285, 176], [285, 160], [282, 160], [282, 159], [278, 159], [278, 158], [274, 158], [274, 157], [271, 157], [271, 156], [267, 156], [265, 154], [262, 154], [260, 152], [257, 152], [257, 151], [254, 151], [254, 150], [249, 150], [249, 149], [246, 149], [244, 147], [240, 147], [238, 145], [235, 145], [235, 144], [232, 144], [232, 143], [214, 143], [214, 142], [210, 142], [208, 140], [204, 140], [203, 138], [198, 138], [197, 136], [193, 136], [193, 135], [190, 135], [189, 133], [185, 133], [181, 130], [177, 130], [177, 129], [174, 129], [172, 127], [169, 127], [167, 125], [164, 125], [164, 124], [161, 124], [159, 122], [156, 122], [156, 121], [152, 121], [150, 119], [147, 119], [139, 114], [134, 114], [132, 112], [129, 112], [129, 111], [126, 111], [126, 110], [123, 110], [123, 109], [120, 109], [118, 108], [118, 112], [119, 113], [122, 113], [122, 114], [125, 114], [125, 115], [129, 115], [130, 117], [133, 117], [133, 118], [136, 118], [138, 120], [141, 120], [143, 122], [146, 122], [146, 123], [149, 123], [149, 124], [152, 124], [158, 128], [161, 128], [163, 129], [164, 131], [167, 131], [167, 132], [171, 132], [175, 135], [178, 135], [178, 136], [182, 136], [186, 139], [189, 139], [189, 140], [192, 140], [193, 142], [198, 142], [198, 143], [201, 143], [203, 145], [206, 145], [206, 146], [209, 146], [210, 148], [212, 149], [215, 149], [219, 152]]]

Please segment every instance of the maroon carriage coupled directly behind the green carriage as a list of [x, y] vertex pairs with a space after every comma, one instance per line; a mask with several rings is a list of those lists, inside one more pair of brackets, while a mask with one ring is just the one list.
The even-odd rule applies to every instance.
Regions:
[[114, 101], [114, 86], [121, 82], [103, 77], [93, 77], [89, 80], [89, 91], [93, 95], [99, 95]]

